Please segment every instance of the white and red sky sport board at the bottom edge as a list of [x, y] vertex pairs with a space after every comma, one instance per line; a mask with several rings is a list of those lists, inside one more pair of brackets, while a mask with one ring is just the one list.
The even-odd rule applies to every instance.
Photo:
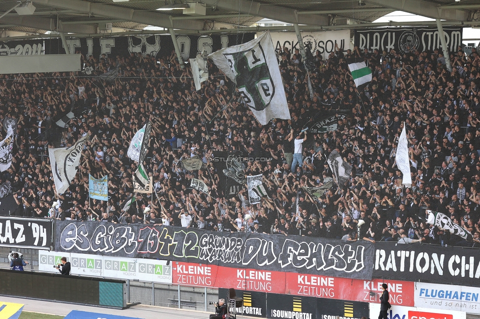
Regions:
[[[378, 318], [380, 303], [370, 304], [370, 318]], [[466, 319], [463, 311], [439, 310], [430, 308], [392, 306], [388, 312], [389, 319]]]

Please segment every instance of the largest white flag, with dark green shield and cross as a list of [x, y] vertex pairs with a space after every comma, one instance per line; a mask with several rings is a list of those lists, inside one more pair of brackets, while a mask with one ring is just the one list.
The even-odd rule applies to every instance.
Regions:
[[270, 32], [211, 53], [213, 63], [237, 83], [240, 96], [261, 125], [290, 119], [285, 90]]

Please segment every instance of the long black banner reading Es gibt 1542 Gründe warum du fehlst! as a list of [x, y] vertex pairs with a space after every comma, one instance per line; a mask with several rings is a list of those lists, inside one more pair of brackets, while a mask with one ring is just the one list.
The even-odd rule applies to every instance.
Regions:
[[313, 237], [58, 221], [55, 250], [370, 280], [374, 246]]

